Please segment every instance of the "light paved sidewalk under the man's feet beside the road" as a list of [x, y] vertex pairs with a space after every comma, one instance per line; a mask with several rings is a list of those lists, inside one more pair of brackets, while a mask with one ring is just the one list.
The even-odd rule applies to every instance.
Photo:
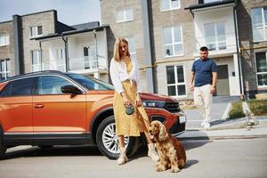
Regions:
[[[214, 103], [212, 108], [211, 127], [204, 129], [200, 126], [202, 118], [198, 109], [184, 110], [187, 116], [186, 131], [179, 135], [179, 140], [222, 140], [267, 138], [267, 116], [256, 117], [259, 125], [250, 128], [246, 125], [246, 117], [224, 119], [228, 112], [229, 103]], [[222, 118], [223, 117], [223, 118]]]

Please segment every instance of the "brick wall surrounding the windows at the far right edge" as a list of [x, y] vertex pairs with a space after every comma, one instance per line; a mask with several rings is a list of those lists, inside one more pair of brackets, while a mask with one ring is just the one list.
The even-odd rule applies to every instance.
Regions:
[[238, 24], [239, 24], [239, 43], [241, 49], [242, 73], [245, 87], [245, 93], [254, 98], [254, 94], [259, 90], [267, 90], [267, 88], [258, 89], [256, 79], [255, 67], [255, 53], [267, 51], [267, 42], [253, 42], [253, 30], [251, 9], [255, 7], [267, 6], [267, 2], [263, 0], [242, 0], [239, 2], [238, 11]]

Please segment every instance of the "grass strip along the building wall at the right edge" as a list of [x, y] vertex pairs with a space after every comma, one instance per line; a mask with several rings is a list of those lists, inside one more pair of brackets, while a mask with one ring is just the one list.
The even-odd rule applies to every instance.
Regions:
[[[250, 100], [247, 103], [255, 116], [267, 116], [267, 100]], [[231, 111], [229, 112], [230, 119], [245, 117], [241, 101], [233, 102], [231, 105]]]

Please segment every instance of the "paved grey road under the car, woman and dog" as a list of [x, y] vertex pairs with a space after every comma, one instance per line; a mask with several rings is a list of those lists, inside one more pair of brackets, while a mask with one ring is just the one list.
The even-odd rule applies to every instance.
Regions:
[[19, 147], [0, 161], [0, 177], [215, 177], [266, 178], [267, 139], [185, 141], [188, 161], [178, 174], [155, 172], [141, 150], [124, 166], [101, 156], [95, 147]]

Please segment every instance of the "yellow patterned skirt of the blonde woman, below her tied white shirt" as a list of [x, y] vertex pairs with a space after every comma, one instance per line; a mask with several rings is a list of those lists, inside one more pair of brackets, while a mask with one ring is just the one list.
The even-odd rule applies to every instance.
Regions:
[[[131, 85], [129, 81], [125, 81], [122, 85], [130, 103], [135, 103], [137, 91], [135, 83]], [[140, 136], [140, 133], [148, 132], [150, 119], [143, 106], [136, 107], [134, 104], [134, 114], [127, 115], [123, 97], [115, 92], [113, 108], [117, 135]]]

